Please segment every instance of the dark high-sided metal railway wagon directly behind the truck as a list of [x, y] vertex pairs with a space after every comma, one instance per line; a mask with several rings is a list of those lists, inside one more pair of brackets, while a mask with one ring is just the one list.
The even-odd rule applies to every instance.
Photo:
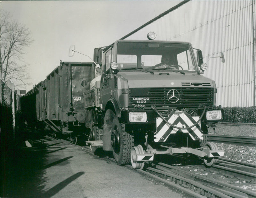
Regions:
[[86, 135], [89, 126], [85, 127], [83, 93], [90, 90], [87, 82], [94, 78], [93, 67], [91, 62], [60, 62], [45, 80], [22, 97], [28, 122], [49, 130], [54, 137], [65, 135], [72, 143], [77, 142], [78, 136]]

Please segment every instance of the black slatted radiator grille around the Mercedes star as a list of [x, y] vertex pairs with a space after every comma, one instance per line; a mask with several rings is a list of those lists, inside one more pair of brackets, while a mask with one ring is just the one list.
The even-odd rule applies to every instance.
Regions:
[[[167, 93], [176, 89], [180, 93], [180, 99], [176, 103], [170, 103]], [[145, 91], [146, 90], [146, 91]], [[134, 94], [133, 94], [134, 93]], [[136, 94], [135, 94], [136, 93]], [[138, 94], [141, 93], [141, 94]], [[197, 107], [199, 104], [213, 104], [213, 88], [131, 88], [129, 89], [129, 106], [134, 105], [133, 97], [149, 97], [145, 105], [170, 106], [170, 107]]]

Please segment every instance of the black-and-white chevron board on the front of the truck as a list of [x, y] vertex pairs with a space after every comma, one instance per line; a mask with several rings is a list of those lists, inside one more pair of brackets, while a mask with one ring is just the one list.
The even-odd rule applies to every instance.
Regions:
[[[165, 118], [169, 123], [177, 127], [188, 127], [194, 125], [199, 117], [191, 117], [186, 112], [171, 112], [168, 118]], [[203, 140], [203, 134], [201, 130], [201, 123], [190, 129], [177, 129], [173, 128], [169, 124], [165, 123], [162, 118], [156, 118], [156, 133], [155, 142], [164, 142], [168, 139], [170, 134], [177, 132], [188, 133], [192, 140]]]

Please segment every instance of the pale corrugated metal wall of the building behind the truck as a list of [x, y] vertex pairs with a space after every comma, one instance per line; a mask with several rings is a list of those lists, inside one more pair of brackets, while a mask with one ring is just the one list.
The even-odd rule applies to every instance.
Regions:
[[[204, 76], [216, 82], [216, 105], [255, 105], [255, 1], [189, 1], [132, 34], [127, 39], [187, 41], [201, 49], [208, 69]], [[220, 58], [224, 53], [225, 63]]]

